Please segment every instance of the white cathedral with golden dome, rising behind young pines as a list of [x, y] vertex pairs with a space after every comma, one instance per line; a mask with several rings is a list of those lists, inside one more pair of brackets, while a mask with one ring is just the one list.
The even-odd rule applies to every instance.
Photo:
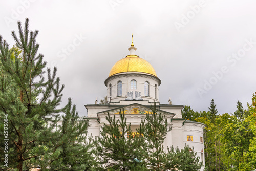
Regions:
[[131, 123], [134, 131], [139, 127], [141, 118], [151, 111], [151, 104], [154, 102], [158, 108], [158, 113], [163, 114], [168, 126], [172, 130], [167, 133], [164, 141], [165, 149], [167, 146], [183, 148], [186, 145], [194, 147], [194, 151], [203, 161], [204, 169], [204, 143], [203, 129], [205, 124], [194, 122], [182, 118], [181, 110], [183, 105], [174, 105], [169, 99], [169, 104], [159, 102], [159, 86], [161, 80], [150, 63], [136, 55], [136, 47], [132, 42], [128, 48], [130, 54], [117, 61], [110, 70], [109, 77], [105, 80], [107, 87], [106, 104], [87, 104], [87, 119], [89, 119], [89, 135], [93, 137], [101, 136], [101, 126], [108, 124], [105, 117], [116, 115], [119, 118], [120, 109], [124, 109], [127, 122]]

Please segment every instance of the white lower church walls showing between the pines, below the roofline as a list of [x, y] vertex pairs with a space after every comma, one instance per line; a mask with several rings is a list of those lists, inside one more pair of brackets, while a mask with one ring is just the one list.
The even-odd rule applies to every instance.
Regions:
[[[113, 106], [112, 108], [114, 108]], [[94, 108], [92, 106], [92, 108]], [[181, 110], [182, 107], [179, 107], [180, 109], [175, 109], [176, 112]], [[90, 108], [88, 108], [90, 109]], [[105, 111], [105, 108], [103, 108]], [[100, 110], [98, 108], [97, 110]], [[161, 109], [162, 110], [162, 109]], [[173, 110], [172, 112], [174, 113]], [[167, 110], [165, 110], [167, 111]], [[108, 123], [105, 119], [106, 114], [104, 113], [98, 113], [99, 115], [99, 122], [97, 119], [90, 119], [90, 127], [88, 129], [89, 135], [92, 134], [93, 138], [95, 136], [100, 136], [100, 126], [102, 126], [104, 123]], [[111, 114], [113, 115], [113, 114]], [[116, 115], [116, 119], [119, 119], [119, 115]], [[125, 117], [127, 118], [127, 123], [131, 123], [131, 129], [133, 132], [137, 132], [136, 129], [139, 127], [139, 124], [141, 123], [142, 115], [134, 115], [134, 114], [126, 114]], [[197, 122], [191, 122], [191, 121], [185, 121], [184, 119], [172, 119], [172, 116], [166, 115], [168, 120], [168, 127], [172, 126], [172, 131], [168, 132], [166, 135], [166, 139], [164, 141], [164, 148], [167, 149], [167, 147], [173, 146], [174, 148], [178, 147], [179, 149], [184, 148], [185, 144], [189, 145], [189, 147], [194, 147], [194, 152], [197, 152], [197, 156], [200, 157], [200, 161], [204, 162], [204, 143], [203, 143], [203, 129], [204, 124], [197, 123]], [[185, 121], [185, 122], [184, 122]], [[187, 136], [191, 136], [193, 138], [193, 141], [188, 141]], [[201, 142], [202, 137], [202, 142]], [[204, 167], [202, 167], [201, 170], [203, 170]]]

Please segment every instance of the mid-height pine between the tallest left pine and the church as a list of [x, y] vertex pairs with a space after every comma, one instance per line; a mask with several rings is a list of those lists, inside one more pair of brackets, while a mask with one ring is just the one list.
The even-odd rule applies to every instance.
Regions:
[[60, 125], [49, 132], [45, 140], [46, 151], [41, 160], [35, 160], [41, 170], [91, 170], [94, 162], [92, 137], [87, 139], [88, 120], [79, 120], [71, 98], [63, 109]]

